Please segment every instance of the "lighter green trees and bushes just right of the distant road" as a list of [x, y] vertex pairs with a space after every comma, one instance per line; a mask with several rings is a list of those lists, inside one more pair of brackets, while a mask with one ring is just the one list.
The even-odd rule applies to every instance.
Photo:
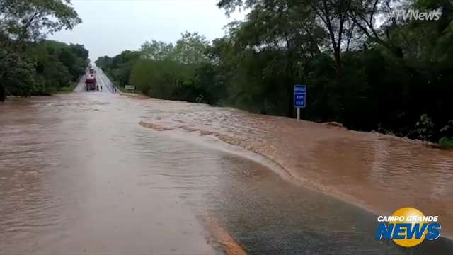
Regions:
[[209, 42], [202, 35], [185, 33], [176, 45], [152, 40], [138, 52], [100, 57], [96, 65], [120, 88], [131, 83], [155, 98], [196, 101], [205, 94], [194, 78], [197, 68], [208, 62], [207, 47]]

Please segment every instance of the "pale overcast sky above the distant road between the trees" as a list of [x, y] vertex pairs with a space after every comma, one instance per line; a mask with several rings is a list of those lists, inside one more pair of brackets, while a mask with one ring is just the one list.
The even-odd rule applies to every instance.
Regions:
[[83, 23], [49, 39], [85, 45], [92, 62], [122, 50], [138, 50], [146, 40], [176, 42], [180, 33], [195, 32], [208, 40], [222, 37], [228, 18], [216, 0], [72, 0]]

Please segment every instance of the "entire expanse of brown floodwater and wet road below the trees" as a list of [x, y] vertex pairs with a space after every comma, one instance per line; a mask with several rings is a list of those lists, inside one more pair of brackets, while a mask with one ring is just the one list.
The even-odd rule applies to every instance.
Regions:
[[0, 104], [0, 254], [450, 254], [443, 238], [374, 240], [370, 210], [411, 205], [451, 231], [452, 159], [202, 104], [14, 98]]

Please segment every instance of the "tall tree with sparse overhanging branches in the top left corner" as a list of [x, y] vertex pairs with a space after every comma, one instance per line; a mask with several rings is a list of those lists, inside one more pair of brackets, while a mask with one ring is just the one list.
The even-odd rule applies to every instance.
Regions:
[[[4, 0], [0, 2], [0, 100], [6, 91], [17, 91], [11, 86], [25, 81], [12, 82], [8, 75], [17, 74], [11, 67], [28, 69], [28, 60], [16, 61], [14, 55], [23, 55], [30, 42], [45, 38], [63, 28], [71, 29], [81, 19], [69, 0]], [[21, 57], [25, 58], [25, 56]], [[23, 67], [20, 67], [24, 64]], [[24, 76], [24, 78], [27, 76]], [[21, 79], [21, 76], [15, 77]]]

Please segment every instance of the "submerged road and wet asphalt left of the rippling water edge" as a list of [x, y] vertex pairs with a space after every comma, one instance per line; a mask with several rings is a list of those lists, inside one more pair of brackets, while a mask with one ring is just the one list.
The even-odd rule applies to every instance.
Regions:
[[164, 125], [212, 111], [105, 90], [1, 105], [0, 254], [452, 254], [374, 240], [373, 213]]

